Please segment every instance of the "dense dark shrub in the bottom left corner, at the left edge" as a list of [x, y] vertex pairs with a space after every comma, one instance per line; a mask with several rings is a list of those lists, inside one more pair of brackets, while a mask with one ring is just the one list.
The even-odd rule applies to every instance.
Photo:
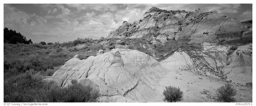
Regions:
[[4, 81], [4, 102], [46, 102], [47, 89], [47, 82], [30, 70]]

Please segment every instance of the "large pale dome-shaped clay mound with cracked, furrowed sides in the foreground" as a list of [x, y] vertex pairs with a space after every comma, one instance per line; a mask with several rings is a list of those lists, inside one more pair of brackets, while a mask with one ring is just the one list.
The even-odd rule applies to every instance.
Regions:
[[66, 87], [71, 79], [77, 79], [99, 92], [100, 102], [154, 102], [161, 101], [157, 81], [166, 71], [151, 56], [117, 46], [110, 52], [84, 60], [76, 55], [47, 80]]

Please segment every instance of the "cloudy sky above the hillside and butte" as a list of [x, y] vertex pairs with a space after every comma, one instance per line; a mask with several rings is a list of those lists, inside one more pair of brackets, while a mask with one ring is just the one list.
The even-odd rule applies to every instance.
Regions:
[[4, 27], [34, 43], [99, 39], [123, 21], [133, 22], [151, 7], [217, 11], [239, 21], [252, 19], [252, 4], [4, 4]]

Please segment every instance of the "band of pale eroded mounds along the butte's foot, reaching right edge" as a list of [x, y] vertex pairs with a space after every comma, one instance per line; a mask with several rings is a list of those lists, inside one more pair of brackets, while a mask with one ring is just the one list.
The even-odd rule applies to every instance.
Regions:
[[235, 83], [252, 82], [252, 44], [239, 46], [227, 55], [230, 46], [202, 43], [202, 48], [183, 47], [160, 63], [175, 70], [226, 79]]

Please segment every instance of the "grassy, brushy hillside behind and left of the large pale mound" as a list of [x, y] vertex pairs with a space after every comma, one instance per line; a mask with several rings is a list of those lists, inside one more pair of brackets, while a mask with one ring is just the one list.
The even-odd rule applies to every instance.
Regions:
[[[49, 95], [48, 91], [61, 88], [56, 88], [54, 82], [45, 82], [42, 79], [53, 75], [59, 67], [75, 55], [79, 55], [80, 59], [86, 59], [89, 56], [96, 56], [99, 50], [111, 51], [115, 48], [116, 40], [119, 39], [121, 38], [77, 38], [74, 41], [55, 42], [49, 45], [4, 44], [4, 102], [53, 101], [47, 98], [56, 98], [52, 97], [56, 95]], [[143, 38], [122, 38], [122, 40], [126, 41], [127, 48], [144, 52], [158, 61], [169, 57], [182, 47], [201, 47], [200, 44], [187, 44], [186, 41], [172, 39], [163, 44], [157, 40]], [[241, 46], [252, 42], [252, 39], [241, 39], [239, 44], [235, 42], [237, 43], [237, 40], [220, 42], [219, 45]], [[19, 85], [19, 87], [13, 85]]]

